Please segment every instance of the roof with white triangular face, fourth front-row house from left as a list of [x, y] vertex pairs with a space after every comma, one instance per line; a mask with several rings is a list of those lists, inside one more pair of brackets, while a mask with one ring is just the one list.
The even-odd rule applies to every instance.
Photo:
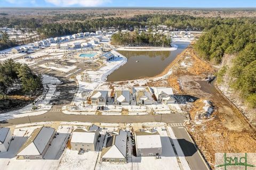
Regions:
[[127, 132], [118, 130], [118, 134], [113, 134], [107, 138], [106, 148], [102, 150], [102, 158], [125, 158], [127, 145]]

